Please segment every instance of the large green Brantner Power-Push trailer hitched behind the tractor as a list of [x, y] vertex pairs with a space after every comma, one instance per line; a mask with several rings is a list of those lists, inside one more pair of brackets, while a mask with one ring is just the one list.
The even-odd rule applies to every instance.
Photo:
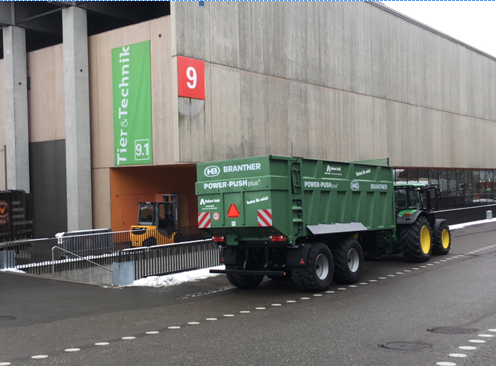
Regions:
[[[226, 266], [214, 272], [238, 287], [256, 287], [264, 276], [293, 278], [308, 291], [333, 279], [354, 283], [364, 256], [401, 251], [397, 227], [410, 226], [399, 220], [387, 159], [271, 155], [197, 164], [197, 178], [198, 227], [221, 246]], [[421, 240], [411, 242], [422, 248]]]

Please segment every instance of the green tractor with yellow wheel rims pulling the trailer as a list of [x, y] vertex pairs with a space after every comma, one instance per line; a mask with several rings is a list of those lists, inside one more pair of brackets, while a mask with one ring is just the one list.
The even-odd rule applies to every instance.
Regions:
[[436, 219], [431, 194], [435, 186], [395, 184], [396, 238], [399, 250], [411, 262], [425, 262], [431, 254], [448, 254], [451, 234], [444, 219]]

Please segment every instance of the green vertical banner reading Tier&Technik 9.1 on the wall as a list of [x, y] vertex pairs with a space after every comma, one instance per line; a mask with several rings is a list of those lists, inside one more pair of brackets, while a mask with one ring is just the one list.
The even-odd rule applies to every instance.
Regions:
[[114, 164], [152, 164], [150, 41], [112, 50]]

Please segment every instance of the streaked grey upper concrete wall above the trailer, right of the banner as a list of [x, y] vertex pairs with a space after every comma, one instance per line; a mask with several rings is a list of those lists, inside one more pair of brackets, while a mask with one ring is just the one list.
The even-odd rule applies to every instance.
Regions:
[[204, 107], [177, 108], [179, 161], [496, 166], [492, 58], [364, 2], [178, 2], [171, 12], [173, 57], [206, 62]]

